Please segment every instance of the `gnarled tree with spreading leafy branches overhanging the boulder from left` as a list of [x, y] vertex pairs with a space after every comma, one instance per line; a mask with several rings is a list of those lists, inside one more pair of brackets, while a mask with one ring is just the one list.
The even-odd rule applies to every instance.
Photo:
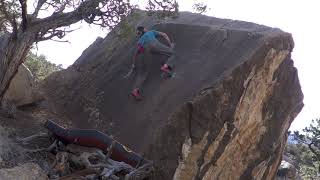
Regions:
[[[27, 0], [0, 1], [0, 103], [36, 42], [61, 39], [71, 32], [69, 25], [81, 20], [101, 27], [113, 28], [132, 9], [129, 0], [34, 0], [34, 8]], [[173, 12], [178, 10], [174, 0], [149, 0], [149, 10]], [[50, 15], [40, 17], [41, 11]]]

